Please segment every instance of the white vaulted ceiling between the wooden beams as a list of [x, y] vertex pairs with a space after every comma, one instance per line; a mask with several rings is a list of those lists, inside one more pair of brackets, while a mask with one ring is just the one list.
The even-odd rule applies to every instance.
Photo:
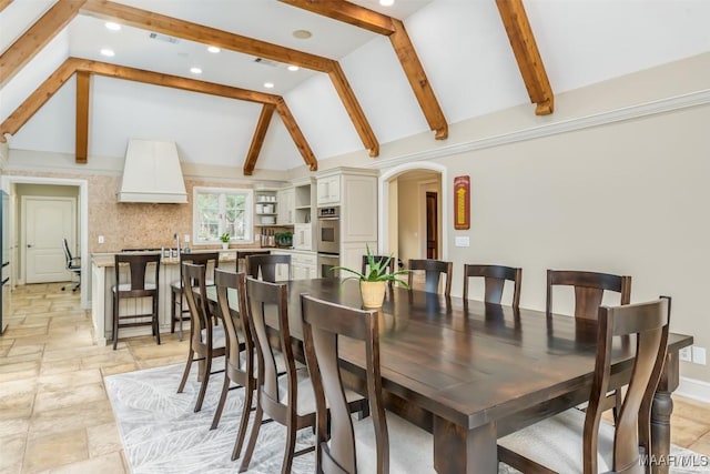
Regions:
[[[381, 143], [428, 130], [384, 37], [275, 0], [120, 2], [338, 60]], [[404, 19], [449, 123], [529, 101], [494, 0], [397, 0], [390, 9], [376, 0], [355, 3]], [[52, 4], [10, 3], [0, 12], [0, 50]], [[555, 93], [710, 51], [706, 0], [527, 0], [525, 6]], [[313, 37], [296, 39], [297, 29]], [[115, 57], [101, 56], [102, 48], [113, 49]], [[0, 90], [0, 121], [69, 56], [282, 94], [316, 159], [366, 154], [323, 73], [291, 72], [286, 64], [255, 63], [254, 57], [235, 52], [212, 54], [205, 44], [154, 40], [130, 27], [114, 32], [83, 16]], [[203, 73], [191, 74], [193, 65]], [[265, 89], [265, 81], [275, 87]], [[10, 148], [73, 153], [73, 85], [72, 79], [10, 138]], [[154, 138], [174, 140], [183, 161], [241, 169], [260, 111], [254, 103], [94, 77], [89, 159], [122, 157], [129, 138]], [[274, 115], [256, 169], [301, 164]]]

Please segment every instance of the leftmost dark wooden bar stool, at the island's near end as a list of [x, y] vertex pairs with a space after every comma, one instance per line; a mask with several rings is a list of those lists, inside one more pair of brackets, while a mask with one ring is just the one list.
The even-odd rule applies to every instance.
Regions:
[[[158, 322], [159, 288], [160, 288], [160, 253], [116, 253], [114, 260], [115, 285], [113, 293], [113, 350], [119, 342], [120, 327], [135, 327], [150, 325], [153, 329], [158, 344], [160, 344], [160, 327]], [[146, 282], [148, 265], [153, 264], [155, 276]], [[128, 265], [128, 282], [121, 282], [121, 268]], [[142, 303], [136, 302], [135, 314], [120, 314], [121, 300], [150, 297], [151, 312], [141, 313]], [[139, 306], [140, 304], [140, 306]], [[122, 320], [129, 320], [121, 323]]]

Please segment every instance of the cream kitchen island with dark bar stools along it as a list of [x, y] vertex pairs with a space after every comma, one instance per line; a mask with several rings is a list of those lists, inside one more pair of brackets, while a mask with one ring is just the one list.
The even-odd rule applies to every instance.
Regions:
[[[220, 268], [234, 271], [237, 268], [237, 252], [268, 252], [270, 249], [229, 249], [220, 250]], [[214, 252], [214, 250], [193, 251], [194, 253]], [[111, 289], [115, 284], [115, 253], [93, 253], [91, 255], [91, 314], [97, 344], [105, 345], [113, 337], [112, 314], [113, 297]], [[171, 284], [180, 280], [180, 259], [161, 259], [159, 285], [159, 324], [161, 333], [170, 331]], [[146, 312], [150, 299], [133, 299], [121, 302], [122, 314]], [[151, 329], [126, 327], [121, 337], [150, 335]]]

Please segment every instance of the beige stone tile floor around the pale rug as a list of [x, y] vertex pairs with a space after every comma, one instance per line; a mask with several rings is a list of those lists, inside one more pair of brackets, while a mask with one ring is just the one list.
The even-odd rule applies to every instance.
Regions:
[[[62, 284], [19, 286], [0, 336], [0, 473], [125, 473], [103, 377], [183, 363], [187, 343], [165, 334], [92, 340], [91, 314]], [[710, 455], [710, 405], [673, 397], [672, 442]]]

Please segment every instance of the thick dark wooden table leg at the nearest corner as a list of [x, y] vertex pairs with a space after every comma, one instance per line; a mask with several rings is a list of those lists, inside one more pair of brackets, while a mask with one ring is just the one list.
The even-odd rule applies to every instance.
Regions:
[[465, 430], [434, 416], [434, 467], [439, 474], [497, 473], [497, 431], [495, 424]]

